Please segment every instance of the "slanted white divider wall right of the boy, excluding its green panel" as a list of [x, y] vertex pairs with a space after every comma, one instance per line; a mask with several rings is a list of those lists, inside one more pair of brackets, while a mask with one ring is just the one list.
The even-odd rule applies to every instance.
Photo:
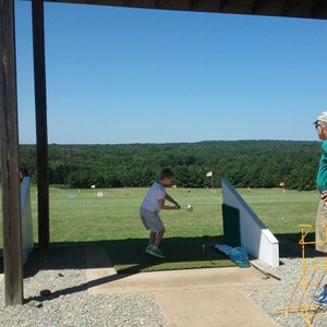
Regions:
[[266, 264], [279, 266], [279, 242], [231, 185], [221, 180], [222, 203], [240, 210], [241, 245]]

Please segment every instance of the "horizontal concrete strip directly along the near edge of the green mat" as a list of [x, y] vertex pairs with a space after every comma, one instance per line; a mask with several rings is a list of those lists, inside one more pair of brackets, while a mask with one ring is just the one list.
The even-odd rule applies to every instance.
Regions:
[[[94, 270], [94, 269], [93, 269]], [[117, 275], [112, 268], [105, 268], [87, 274], [90, 293], [108, 292], [149, 292], [168, 289], [202, 289], [213, 287], [267, 284], [274, 282], [263, 279], [263, 275], [253, 268], [235, 267], [190, 269], [177, 271], [141, 272]], [[102, 278], [106, 278], [102, 279]], [[92, 278], [92, 279], [90, 279]], [[102, 279], [98, 282], [95, 279]], [[92, 284], [94, 282], [94, 284]]]

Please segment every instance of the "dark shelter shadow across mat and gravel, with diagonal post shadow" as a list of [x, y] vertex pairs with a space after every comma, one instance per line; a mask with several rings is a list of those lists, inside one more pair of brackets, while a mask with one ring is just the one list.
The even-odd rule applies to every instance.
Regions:
[[[277, 234], [276, 237], [280, 242], [281, 261], [283, 257], [301, 257], [299, 233]], [[314, 233], [310, 234], [308, 239], [314, 240]], [[162, 250], [169, 256], [169, 258], [167, 258], [164, 263], [162, 261], [150, 257], [144, 253], [144, 250], [147, 245], [147, 239], [52, 243], [47, 252], [40, 252], [35, 249], [35, 251], [31, 254], [24, 267], [25, 278], [35, 276], [39, 270], [48, 269], [57, 270], [58, 275], [64, 275], [64, 270], [66, 269], [85, 269], [86, 267], [106, 268], [98, 265], [87, 266], [85, 250], [89, 246], [105, 247], [116, 267], [120, 267], [120, 274], [101, 277], [89, 282], [84, 282], [82, 284], [58, 290], [48, 296], [29, 298], [27, 301], [53, 300], [61, 295], [86, 291], [89, 287], [122, 279], [131, 276], [131, 274], [135, 274], [162, 264], [169, 266], [172, 263], [182, 263], [183, 265], [187, 265], [187, 263], [190, 263], [191, 268], [194, 267], [194, 263], [198, 264], [197, 267], [202, 267], [202, 263], [206, 263], [203, 266], [208, 267], [208, 262], [210, 262], [213, 267], [232, 266], [225, 255], [210, 250], [210, 246], [216, 243], [223, 243], [223, 239], [221, 237], [165, 239], [162, 243]], [[203, 244], [206, 245], [205, 252], [203, 251]], [[306, 257], [322, 256], [326, 256], [326, 254], [316, 252], [313, 245], [307, 246]]]

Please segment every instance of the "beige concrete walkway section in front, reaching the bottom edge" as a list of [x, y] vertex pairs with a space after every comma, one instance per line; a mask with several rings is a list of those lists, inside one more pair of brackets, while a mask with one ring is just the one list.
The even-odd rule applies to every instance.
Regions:
[[170, 327], [279, 326], [234, 287], [156, 293]]

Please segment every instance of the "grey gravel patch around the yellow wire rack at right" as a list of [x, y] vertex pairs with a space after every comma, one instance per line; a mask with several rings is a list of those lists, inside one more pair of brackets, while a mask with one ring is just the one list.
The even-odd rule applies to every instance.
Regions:
[[[307, 258], [307, 263], [316, 262], [317, 258]], [[289, 305], [291, 294], [302, 276], [302, 259], [301, 258], [281, 258], [281, 265], [277, 268], [265, 265], [259, 259], [252, 261], [264, 270], [274, 274], [281, 278], [281, 281], [268, 286], [250, 286], [244, 287], [243, 291], [256, 304], [258, 304], [271, 318], [274, 318], [280, 326], [306, 326], [302, 313], [291, 314], [276, 314], [276, 310]], [[306, 275], [308, 278], [312, 274]], [[322, 272], [315, 276], [315, 281], [324, 278]], [[326, 278], [325, 278], [326, 282]], [[314, 295], [314, 288], [308, 288], [310, 299]], [[301, 289], [295, 292], [295, 301], [293, 306], [300, 304], [302, 296]], [[308, 303], [310, 304], [310, 303]], [[324, 317], [315, 317], [314, 326], [327, 326], [327, 313]]]

